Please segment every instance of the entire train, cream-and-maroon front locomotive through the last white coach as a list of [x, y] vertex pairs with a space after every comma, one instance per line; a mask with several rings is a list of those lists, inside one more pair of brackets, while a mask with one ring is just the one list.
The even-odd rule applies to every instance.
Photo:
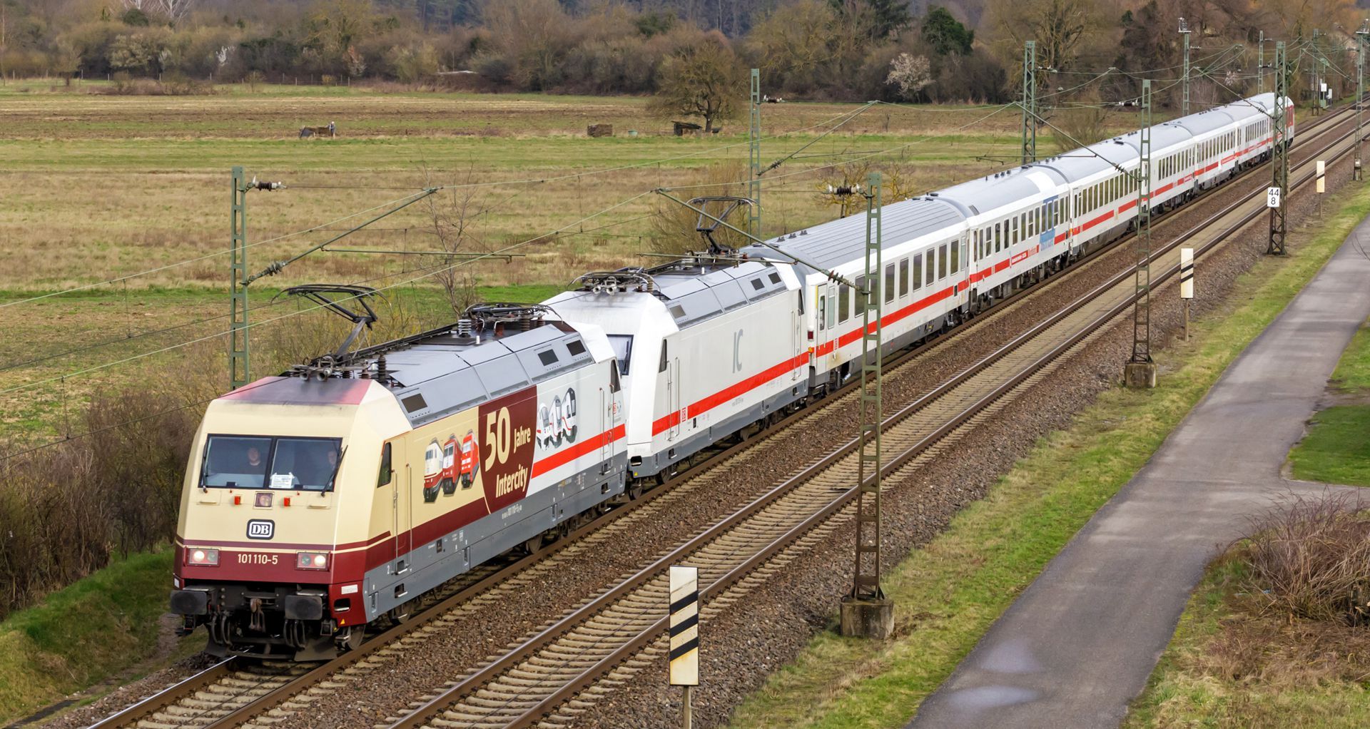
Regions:
[[[1269, 158], [1275, 112], [1267, 93], [1152, 127], [1145, 204], [1164, 212]], [[1140, 149], [1133, 132], [882, 206], [881, 354], [1125, 234]], [[177, 521], [179, 632], [204, 626], [221, 656], [334, 656], [823, 397], [862, 356], [840, 281], [864, 286], [864, 225], [586, 273], [541, 304], [481, 304], [212, 400]]]

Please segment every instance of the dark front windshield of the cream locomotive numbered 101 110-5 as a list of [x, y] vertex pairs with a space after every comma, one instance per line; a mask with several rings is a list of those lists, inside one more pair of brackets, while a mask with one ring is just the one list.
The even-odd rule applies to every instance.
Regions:
[[200, 486], [329, 491], [340, 444], [338, 438], [210, 436]]

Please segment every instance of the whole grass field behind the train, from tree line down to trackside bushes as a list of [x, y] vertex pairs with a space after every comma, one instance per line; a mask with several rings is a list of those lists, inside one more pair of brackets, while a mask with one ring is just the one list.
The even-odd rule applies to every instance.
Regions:
[[[647, 115], [641, 97], [292, 85], [218, 86], [208, 96], [89, 93], [100, 86], [0, 85], [0, 440], [79, 432], [71, 423], [81, 404], [122, 382], [166, 373], [226, 380], [234, 164], [288, 185], [248, 196], [249, 270], [322, 243], [425, 186], [456, 184], [463, 186], [334, 248], [432, 251], [438, 248], [434, 217], [449, 219], [453, 206], [469, 203], [462, 249], [508, 248], [522, 258], [467, 264], [463, 273], [488, 289], [512, 286], [506, 297], [518, 300], [538, 300], [588, 270], [651, 264], [641, 254], [653, 249], [653, 219], [673, 203], [649, 190], [747, 174], [745, 126], [730, 121], [708, 138], [674, 137], [667, 122]], [[762, 159], [769, 164], [795, 152], [858, 108], [767, 104]], [[338, 138], [296, 138], [300, 126], [329, 121]], [[1115, 121], [1126, 126], [1130, 116]], [[588, 138], [592, 122], [612, 123], [616, 136]], [[1012, 110], [870, 108], [767, 173], [764, 230], [789, 232], [836, 215], [817, 193], [834, 174], [825, 166], [869, 156], [906, 193], [923, 192], [1003, 169], [1017, 151], [1017, 125]], [[977, 159], [996, 152], [1006, 158]], [[722, 192], [729, 190], [715, 185], [678, 195]], [[674, 219], [693, 236], [692, 217]], [[253, 284], [252, 304], [274, 304], [253, 315], [253, 347], [269, 343], [256, 349], [256, 374], [279, 364], [270, 343], [326, 318], [273, 303], [281, 288], [319, 281], [382, 288], [403, 310], [399, 317], [382, 310], [392, 325], [385, 330], [403, 332], [407, 323], [452, 317], [434, 277], [449, 263], [319, 252]], [[105, 284], [111, 280], [121, 281]], [[89, 288], [27, 300], [71, 286]], [[281, 312], [289, 317], [270, 321]], [[203, 341], [185, 345], [193, 340]], [[169, 347], [175, 349], [158, 354]]]

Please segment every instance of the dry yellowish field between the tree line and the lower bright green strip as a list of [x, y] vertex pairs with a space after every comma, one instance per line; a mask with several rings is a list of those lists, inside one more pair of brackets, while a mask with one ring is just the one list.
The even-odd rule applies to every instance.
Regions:
[[[0, 258], [0, 289], [95, 282], [226, 248], [233, 164], [289, 185], [249, 196], [249, 241], [325, 223], [426, 185], [480, 184], [486, 185], [478, 188], [480, 203], [490, 211], [475, 226], [471, 249], [493, 249], [545, 236], [653, 188], [689, 185], [710, 164], [745, 166], [748, 153], [745, 127], [729, 122], [710, 138], [678, 138], [667, 123], [647, 116], [645, 99], [306, 89], [111, 97], [0, 88], [0, 196], [7, 201], [0, 229], [23, 241]], [[856, 108], [769, 104], [763, 132], [771, 137], [762, 144], [763, 160], [793, 152]], [[973, 159], [1008, 155], [1017, 147], [1018, 118], [1000, 112], [974, 123], [989, 114], [955, 107], [866, 111], [769, 173], [767, 232], [830, 218], [817, 200], [825, 178], [815, 169], [852, 156], [884, 151], [880, 159], [906, 166], [917, 192], [1003, 169], [1004, 160]], [[300, 126], [329, 121], [337, 122], [338, 138], [296, 138]], [[588, 138], [589, 122], [614, 123], [618, 134]], [[640, 134], [629, 137], [630, 129]], [[511, 181], [526, 182], [488, 185]], [[567, 258], [590, 266], [632, 263], [645, 249], [640, 237], [651, 232], [640, 218], [660, 204], [638, 199], [482, 275], [492, 284], [560, 282]], [[414, 206], [355, 236], [349, 247], [430, 248], [425, 227], [432, 227], [426, 206]], [[252, 258], [264, 263], [303, 243], [266, 244]], [[395, 263], [337, 254], [284, 278], [379, 275]], [[133, 285], [222, 281], [222, 260], [207, 259]]]

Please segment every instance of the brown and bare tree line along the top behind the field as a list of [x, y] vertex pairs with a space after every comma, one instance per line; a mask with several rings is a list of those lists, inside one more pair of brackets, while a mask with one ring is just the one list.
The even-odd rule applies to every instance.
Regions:
[[1178, 74], [1185, 18], [1196, 92], [1217, 101], [1255, 77], [1262, 32], [1321, 30], [1319, 52], [1349, 70], [1360, 25], [1354, 0], [925, 1], [0, 0], [0, 74], [736, 95], [758, 67], [773, 96], [980, 103], [1018, 93], [1034, 40], [1041, 90], [1111, 67], [1086, 92], [1117, 99]]

